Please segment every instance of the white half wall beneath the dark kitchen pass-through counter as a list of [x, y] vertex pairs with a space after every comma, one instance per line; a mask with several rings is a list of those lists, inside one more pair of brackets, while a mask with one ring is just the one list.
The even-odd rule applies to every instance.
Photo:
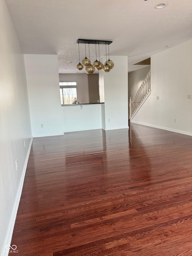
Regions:
[[[62, 106], [63, 131], [101, 129], [101, 105], [103, 104]], [[80, 106], [83, 107], [82, 110]]]

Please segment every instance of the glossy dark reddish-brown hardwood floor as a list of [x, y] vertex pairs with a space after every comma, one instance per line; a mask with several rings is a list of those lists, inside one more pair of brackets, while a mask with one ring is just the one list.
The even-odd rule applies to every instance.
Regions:
[[191, 256], [191, 209], [190, 136], [132, 124], [34, 138], [11, 244], [19, 256]]

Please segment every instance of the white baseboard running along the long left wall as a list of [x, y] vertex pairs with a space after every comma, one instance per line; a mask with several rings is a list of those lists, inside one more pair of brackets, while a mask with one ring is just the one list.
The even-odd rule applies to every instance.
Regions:
[[6, 235], [5, 242], [4, 242], [4, 247], [3, 247], [4, 249], [3, 249], [3, 252], [1, 254], [1, 256], [7, 256], [9, 254], [9, 251], [5, 250], [5, 248], [6, 248], [6, 245], [10, 245], [10, 243], [11, 243], [11, 239], [12, 239], [12, 235], [13, 235], [13, 228], [14, 228], [14, 225], [15, 225], [17, 210], [18, 210], [19, 201], [20, 201], [20, 198], [21, 198], [21, 192], [22, 192], [22, 188], [23, 188], [23, 182], [24, 182], [25, 173], [26, 173], [26, 169], [27, 169], [27, 163], [28, 163], [28, 159], [29, 159], [29, 154], [30, 154], [30, 150], [31, 150], [32, 141], [33, 141], [33, 137], [31, 138], [31, 141], [30, 141], [30, 144], [29, 144], [29, 149], [28, 149], [28, 152], [27, 152], [25, 164], [24, 164], [24, 167], [23, 167], [23, 171], [22, 171], [22, 175], [21, 175], [21, 179], [20, 179], [20, 183], [19, 183], [19, 188], [18, 188], [18, 191], [17, 191], [17, 194], [16, 194], [16, 199], [15, 199], [15, 203], [14, 203], [14, 206], [13, 206], [13, 211], [12, 211], [12, 214], [11, 214], [10, 222], [9, 222], [9, 227], [8, 227], [8, 230], [7, 230], [7, 235]]

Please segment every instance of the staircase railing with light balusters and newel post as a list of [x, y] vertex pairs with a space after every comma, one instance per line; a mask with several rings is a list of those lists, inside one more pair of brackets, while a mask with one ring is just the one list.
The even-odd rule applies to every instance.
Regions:
[[136, 114], [137, 110], [142, 106], [144, 101], [151, 94], [151, 71], [147, 74], [142, 85], [134, 95], [133, 99], [130, 97], [129, 108], [130, 108], [130, 119]]

